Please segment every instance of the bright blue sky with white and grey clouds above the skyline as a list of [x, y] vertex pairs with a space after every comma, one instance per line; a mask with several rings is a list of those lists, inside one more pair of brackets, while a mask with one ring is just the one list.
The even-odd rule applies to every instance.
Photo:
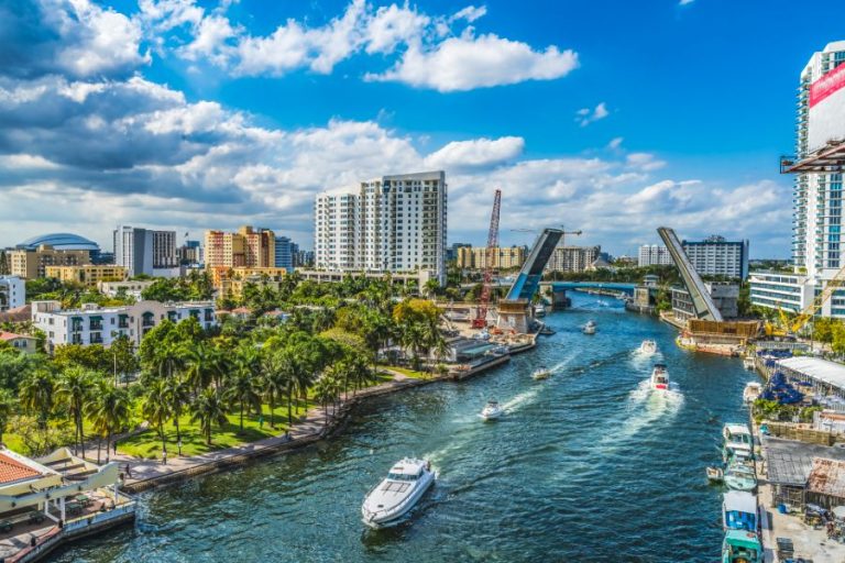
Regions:
[[[834, 1], [0, 0], [0, 246], [119, 222], [311, 244], [325, 189], [443, 168], [450, 242], [655, 228], [786, 256], [798, 74]], [[837, 25], [838, 22], [838, 25]], [[574, 241], [573, 241], [574, 242]]]

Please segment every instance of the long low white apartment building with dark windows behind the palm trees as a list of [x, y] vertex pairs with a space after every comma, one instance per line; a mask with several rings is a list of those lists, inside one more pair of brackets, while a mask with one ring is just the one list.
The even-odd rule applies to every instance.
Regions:
[[129, 336], [135, 345], [165, 319], [179, 322], [189, 317], [209, 329], [217, 324], [212, 301], [162, 303], [140, 301], [124, 307], [89, 303], [81, 309], [63, 310], [59, 301], [33, 301], [32, 322], [47, 335], [47, 346], [62, 344], [110, 345], [120, 336]]

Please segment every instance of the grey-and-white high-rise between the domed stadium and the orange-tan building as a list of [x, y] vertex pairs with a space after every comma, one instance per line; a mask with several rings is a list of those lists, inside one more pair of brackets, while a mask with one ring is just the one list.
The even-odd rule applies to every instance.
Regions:
[[[123, 266], [130, 277], [167, 274], [179, 265], [176, 231], [153, 231], [119, 225], [113, 231], [114, 265]], [[160, 271], [160, 272], [156, 272]]]

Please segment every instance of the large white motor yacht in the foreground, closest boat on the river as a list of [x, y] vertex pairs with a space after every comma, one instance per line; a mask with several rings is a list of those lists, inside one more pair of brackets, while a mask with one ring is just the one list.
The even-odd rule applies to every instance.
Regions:
[[399, 523], [435, 482], [431, 464], [405, 457], [391, 467], [387, 477], [372, 489], [361, 506], [365, 525], [386, 528]]

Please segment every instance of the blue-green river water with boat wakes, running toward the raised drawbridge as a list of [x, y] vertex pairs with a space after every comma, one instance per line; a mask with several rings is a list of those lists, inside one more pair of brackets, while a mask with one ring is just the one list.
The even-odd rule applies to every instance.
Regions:
[[[558, 332], [509, 364], [361, 405], [338, 438], [140, 497], [139, 521], [61, 562], [715, 561], [721, 492], [704, 467], [754, 376], [678, 349], [674, 331], [619, 301], [573, 294]], [[584, 335], [589, 319], [599, 332]], [[636, 353], [644, 339], [658, 355]], [[677, 384], [647, 391], [654, 362]], [[538, 365], [553, 369], [535, 382]], [[507, 415], [483, 422], [487, 398]], [[438, 482], [408, 523], [371, 531], [363, 496], [405, 455]]]

